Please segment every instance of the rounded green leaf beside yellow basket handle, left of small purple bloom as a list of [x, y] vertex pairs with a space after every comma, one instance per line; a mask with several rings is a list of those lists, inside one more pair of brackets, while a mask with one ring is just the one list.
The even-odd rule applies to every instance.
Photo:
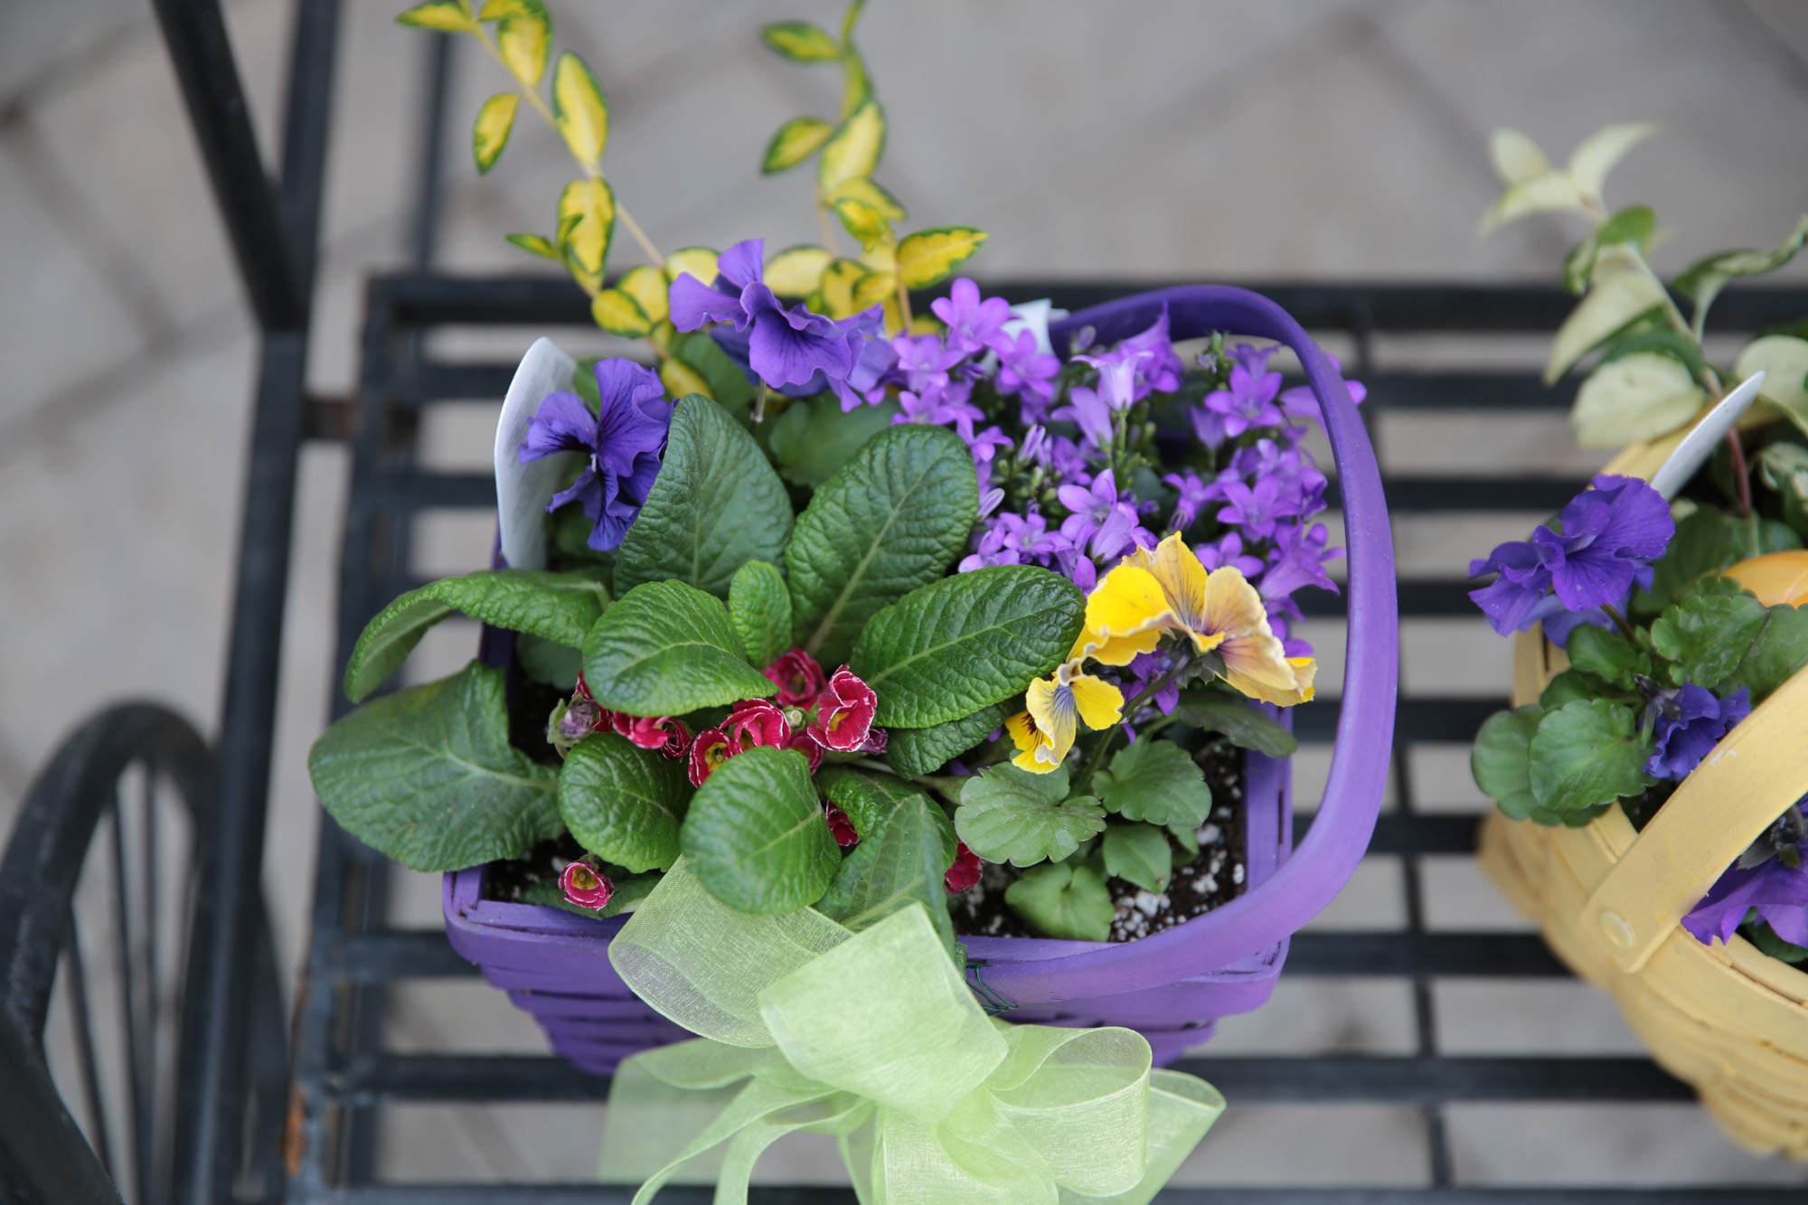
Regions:
[[1546, 715], [1531, 738], [1531, 798], [1555, 812], [1613, 803], [1656, 782], [1649, 760], [1651, 738], [1631, 707], [1580, 698]]

